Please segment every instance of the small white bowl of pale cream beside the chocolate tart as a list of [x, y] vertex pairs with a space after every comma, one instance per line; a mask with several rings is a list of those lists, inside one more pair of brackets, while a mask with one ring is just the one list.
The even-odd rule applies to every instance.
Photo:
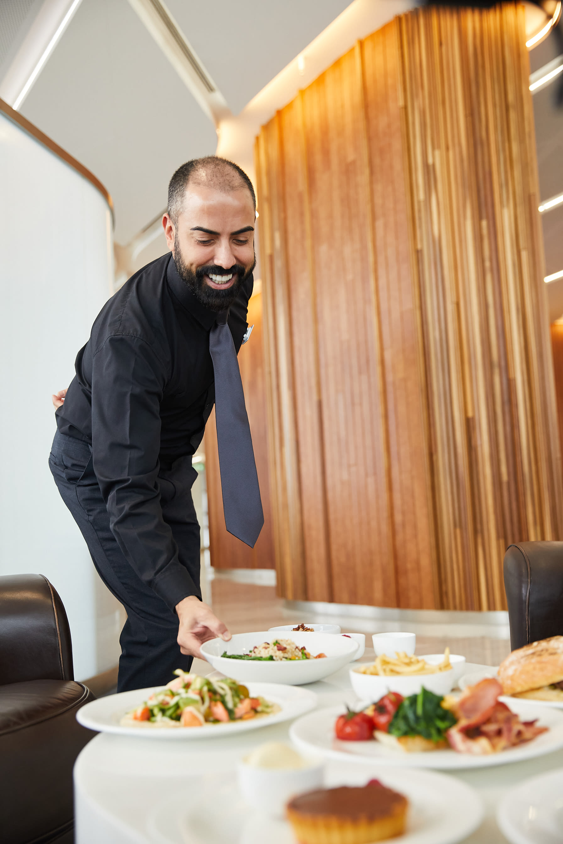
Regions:
[[304, 768], [257, 768], [242, 760], [236, 767], [239, 788], [253, 809], [283, 817], [285, 805], [295, 794], [322, 788], [324, 765], [312, 761]]

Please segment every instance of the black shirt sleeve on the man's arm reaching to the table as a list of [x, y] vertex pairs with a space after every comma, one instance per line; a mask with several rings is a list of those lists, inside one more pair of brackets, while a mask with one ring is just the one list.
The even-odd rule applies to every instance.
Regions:
[[198, 588], [162, 517], [160, 401], [166, 366], [143, 339], [112, 336], [92, 363], [92, 459], [111, 533], [138, 576], [173, 610]]

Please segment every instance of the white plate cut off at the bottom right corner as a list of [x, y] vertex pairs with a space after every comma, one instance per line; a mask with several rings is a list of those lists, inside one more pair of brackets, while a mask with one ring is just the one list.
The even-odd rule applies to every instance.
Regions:
[[563, 768], [533, 776], [512, 788], [496, 812], [511, 844], [560, 844], [563, 841]]

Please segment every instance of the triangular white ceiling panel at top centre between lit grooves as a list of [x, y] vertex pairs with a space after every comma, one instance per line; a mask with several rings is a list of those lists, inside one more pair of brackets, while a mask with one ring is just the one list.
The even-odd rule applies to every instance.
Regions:
[[233, 114], [349, 6], [349, 0], [165, 0]]

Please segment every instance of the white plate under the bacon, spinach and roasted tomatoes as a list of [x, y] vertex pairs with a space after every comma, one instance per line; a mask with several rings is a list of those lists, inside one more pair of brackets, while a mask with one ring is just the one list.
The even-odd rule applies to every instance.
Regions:
[[403, 753], [384, 747], [378, 741], [339, 741], [334, 737], [334, 724], [338, 715], [345, 711], [344, 706], [331, 706], [309, 715], [300, 717], [290, 728], [290, 738], [298, 749], [307, 753], [322, 753], [329, 759], [342, 759], [365, 764], [404, 766], [410, 768], [485, 768], [494, 765], [507, 765], [533, 759], [546, 753], [552, 753], [563, 747], [563, 713], [555, 709], [533, 710], [530, 706], [518, 706], [520, 701], [511, 701], [511, 709], [526, 721], [538, 718], [539, 726], [549, 727], [548, 733], [518, 747], [494, 753], [489, 756], [471, 756], [456, 753], [450, 748], [431, 750], [429, 753]]

